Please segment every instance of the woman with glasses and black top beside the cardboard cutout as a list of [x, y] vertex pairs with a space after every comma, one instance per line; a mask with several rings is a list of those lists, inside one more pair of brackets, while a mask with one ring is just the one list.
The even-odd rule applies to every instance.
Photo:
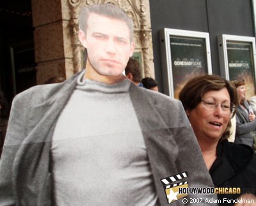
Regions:
[[227, 141], [230, 117], [234, 116], [237, 92], [234, 85], [216, 75], [203, 75], [190, 80], [180, 91], [179, 99], [195, 132], [205, 164], [216, 188], [240, 188], [240, 194], [218, 194], [235, 200], [246, 193], [256, 193], [256, 158], [247, 145]]

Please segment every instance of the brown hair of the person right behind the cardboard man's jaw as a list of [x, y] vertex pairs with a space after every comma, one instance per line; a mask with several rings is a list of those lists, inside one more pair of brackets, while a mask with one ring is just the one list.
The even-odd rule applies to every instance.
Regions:
[[141, 82], [140, 63], [136, 59], [133, 59], [131, 57], [125, 68], [125, 75], [128, 75], [129, 73], [132, 74], [132, 80], [134, 82]]

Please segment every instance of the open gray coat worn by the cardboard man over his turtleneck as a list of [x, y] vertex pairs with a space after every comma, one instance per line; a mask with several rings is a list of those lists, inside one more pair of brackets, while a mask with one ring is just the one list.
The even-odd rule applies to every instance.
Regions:
[[[61, 84], [32, 87], [13, 100], [0, 161], [0, 205], [54, 204], [52, 133], [78, 76]], [[189, 187], [213, 187], [180, 101], [134, 84], [131, 84], [130, 95], [145, 139], [159, 203], [168, 205], [161, 179], [177, 173], [188, 172]], [[216, 198], [215, 195], [206, 197]], [[180, 199], [172, 205], [183, 203]]]

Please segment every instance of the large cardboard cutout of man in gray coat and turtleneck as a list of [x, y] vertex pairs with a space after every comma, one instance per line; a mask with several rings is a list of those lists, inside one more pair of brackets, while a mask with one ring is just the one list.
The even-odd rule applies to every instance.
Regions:
[[0, 205], [167, 205], [161, 179], [185, 171], [189, 186], [212, 187], [180, 101], [122, 74], [134, 51], [131, 18], [96, 4], [81, 10], [79, 26], [86, 70], [13, 100]]

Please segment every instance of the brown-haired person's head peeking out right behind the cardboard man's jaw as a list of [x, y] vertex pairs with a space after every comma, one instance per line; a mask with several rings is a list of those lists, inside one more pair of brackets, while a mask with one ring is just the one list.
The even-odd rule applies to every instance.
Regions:
[[139, 86], [144, 87], [141, 83], [141, 69], [140, 69], [140, 63], [136, 60], [130, 57], [127, 66], [125, 68], [125, 76], [129, 78], [129, 80]]

